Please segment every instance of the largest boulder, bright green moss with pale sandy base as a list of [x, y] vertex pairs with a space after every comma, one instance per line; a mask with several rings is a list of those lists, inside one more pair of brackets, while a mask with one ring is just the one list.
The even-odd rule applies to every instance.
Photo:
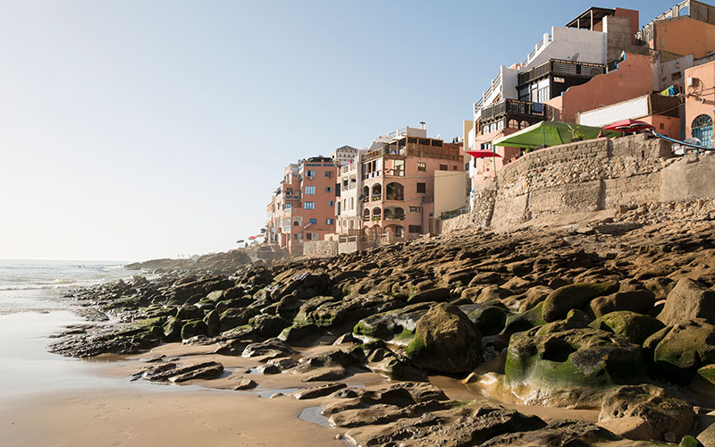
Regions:
[[614, 385], [644, 379], [640, 347], [597, 329], [562, 329], [552, 323], [511, 336], [505, 384], [526, 403], [589, 407]]

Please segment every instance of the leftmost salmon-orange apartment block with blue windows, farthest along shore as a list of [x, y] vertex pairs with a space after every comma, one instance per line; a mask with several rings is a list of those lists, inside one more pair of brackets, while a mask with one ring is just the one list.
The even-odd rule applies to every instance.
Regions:
[[338, 169], [324, 156], [286, 166], [267, 207], [265, 240], [299, 256], [304, 241], [334, 233]]

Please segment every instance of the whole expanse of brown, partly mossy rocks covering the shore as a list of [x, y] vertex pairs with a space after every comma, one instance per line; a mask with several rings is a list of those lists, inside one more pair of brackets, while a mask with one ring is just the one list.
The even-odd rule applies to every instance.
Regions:
[[[455, 232], [323, 259], [159, 264], [143, 266], [162, 268], [151, 279], [68, 294], [85, 316], [118, 323], [72, 327], [50, 350], [195, 347], [205, 355], [148, 358], [132, 377], [237, 392], [286, 377], [290, 396], [316, 400], [354, 445], [715, 445], [710, 222]], [[368, 373], [383, 382], [350, 382]], [[478, 394], [450, 399], [435, 376]], [[590, 409], [598, 424], [517, 405]]]

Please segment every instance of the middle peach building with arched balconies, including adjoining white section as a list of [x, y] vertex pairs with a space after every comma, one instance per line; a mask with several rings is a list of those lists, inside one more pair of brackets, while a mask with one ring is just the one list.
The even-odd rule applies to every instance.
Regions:
[[464, 181], [442, 178], [449, 188], [435, 190], [435, 177], [465, 178], [461, 151], [461, 144], [427, 138], [424, 124], [375, 139], [359, 164], [341, 170], [341, 235], [395, 241], [435, 232], [435, 196], [456, 195], [466, 203]]

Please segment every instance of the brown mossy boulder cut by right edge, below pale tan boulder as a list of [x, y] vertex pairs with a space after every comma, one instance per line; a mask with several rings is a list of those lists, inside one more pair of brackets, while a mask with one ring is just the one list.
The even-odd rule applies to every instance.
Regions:
[[698, 368], [715, 363], [715, 325], [698, 318], [673, 326], [656, 345], [653, 361], [671, 380], [689, 382]]

